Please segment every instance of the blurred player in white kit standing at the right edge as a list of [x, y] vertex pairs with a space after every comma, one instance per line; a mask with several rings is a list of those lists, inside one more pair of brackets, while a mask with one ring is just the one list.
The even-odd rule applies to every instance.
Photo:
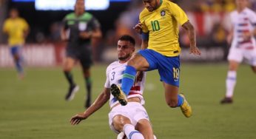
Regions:
[[226, 96], [221, 104], [231, 104], [237, 80], [237, 70], [243, 58], [251, 65], [256, 73], [256, 14], [247, 5], [248, 0], [236, 0], [237, 9], [230, 13], [232, 30], [227, 41], [231, 44], [229, 49], [229, 71], [226, 77]]

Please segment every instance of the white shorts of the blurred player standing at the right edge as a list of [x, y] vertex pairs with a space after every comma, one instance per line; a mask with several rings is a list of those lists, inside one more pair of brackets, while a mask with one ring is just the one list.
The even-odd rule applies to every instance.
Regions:
[[256, 49], [246, 50], [243, 48], [231, 47], [229, 50], [228, 60], [241, 63], [243, 59], [246, 63], [256, 66]]

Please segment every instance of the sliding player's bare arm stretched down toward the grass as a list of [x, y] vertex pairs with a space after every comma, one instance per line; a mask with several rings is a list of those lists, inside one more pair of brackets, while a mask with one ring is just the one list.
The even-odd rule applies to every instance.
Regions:
[[109, 99], [110, 89], [104, 88], [103, 92], [101, 92], [101, 94], [98, 95], [98, 98], [93, 102], [93, 104], [83, 113], [73, 116], [70, 120], [70, 123], [75, 125], [80, 123], [82, 120], [89, 118], [89, 116], [92, 115], [92, 113], [96, 112], [98, 109], [104, 106], [104, 104], [106, 104]]

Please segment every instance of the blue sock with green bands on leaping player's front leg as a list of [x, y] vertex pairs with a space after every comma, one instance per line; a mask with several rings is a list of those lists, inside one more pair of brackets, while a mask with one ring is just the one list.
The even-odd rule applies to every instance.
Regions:
[[127, 65], [127, 68], [124, 71], [121, 89], [126, 95], [129, 95], [129, 90], [134, 83], [136, 72], [136, 69], [129, 65]]

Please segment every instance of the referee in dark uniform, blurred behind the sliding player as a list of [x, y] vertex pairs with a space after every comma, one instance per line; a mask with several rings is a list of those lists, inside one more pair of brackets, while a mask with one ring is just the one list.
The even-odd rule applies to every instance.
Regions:
[[87, 88], [87, 101], [85, 107], [91, 104], [92, 79], [90, 67], [92, 65], [91, 41], [101, 38], [101, 29], [98, 20], [92, 14], [85, 12], [84, 0], [75, 2], [75, 13], [70, 13], [64, 18], [64, 28], [61, 30], [61, 38], [67, 40], [66, 58], [64, 59], [64, 75], [70, 84], [66, 100], [71, 101], [78, 86], [73, 81], [71, 70], [75, 62], [80, 61], [83, 69], [85, 86]]

